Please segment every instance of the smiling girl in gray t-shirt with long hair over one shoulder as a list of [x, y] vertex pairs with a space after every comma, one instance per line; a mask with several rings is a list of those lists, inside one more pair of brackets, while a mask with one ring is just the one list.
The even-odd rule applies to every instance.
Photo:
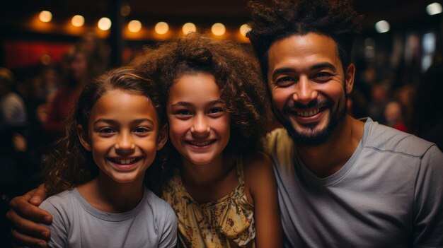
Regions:
[[46, 159], [50, 247], [173, 247], [176, 216], [144, 187], [166, 143], [159, 90], [131, 68], [88, 83]]

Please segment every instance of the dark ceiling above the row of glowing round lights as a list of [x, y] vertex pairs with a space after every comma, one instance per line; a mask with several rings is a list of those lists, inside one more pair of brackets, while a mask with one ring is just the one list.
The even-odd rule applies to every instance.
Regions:
[[[26, 20], [44, 9], [53, 13], [53, 20], [64, 22], [75, 14], [81, 14], [86, 22], [108, 16], [111, 4], [117, 0], [21, 0], [6, 1], [0, 10], [1, 26], [8, 28]], [[248, 20], [248, 0], [128, 0], [131, 13], [142, 23], [156, 23], [164, 20], [171, 25], [193, 22], [207, 26], [223, 22], [238, 25]], [[427, 16], [425, 7], [432, 0], [356, 0], [355, 8], [365, 16], [364, 30], [370, 31], [377, 20], [388, 20], [393, 28], [407, 28], [410, 25], [441, 20]], [[441, 15], [439, 15], [441, 16]], [[88, 24], [88, 23], [87, 23]], [[91, 23], [89, 23], [91, 24]]]

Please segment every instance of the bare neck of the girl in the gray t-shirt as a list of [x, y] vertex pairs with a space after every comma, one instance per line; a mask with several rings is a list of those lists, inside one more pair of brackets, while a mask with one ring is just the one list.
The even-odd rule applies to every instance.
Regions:
[[124, 213], [134, 209], [144, 194], [143, 177], [130, 183], [119, 183], [103, 172], [77, 187], [91, 206], [107, 213]]

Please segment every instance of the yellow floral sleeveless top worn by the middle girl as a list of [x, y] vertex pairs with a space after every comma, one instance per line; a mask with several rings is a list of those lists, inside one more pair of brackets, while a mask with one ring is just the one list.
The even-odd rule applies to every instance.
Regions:
[[163, 187], [162, 197], [178, 218], [183, 247], [255, 248], [254, 207], [246, 199], [243, 163], [236, 159], [238, 186], [222, 199], [197, 203], [183, 187], [178, 170]]

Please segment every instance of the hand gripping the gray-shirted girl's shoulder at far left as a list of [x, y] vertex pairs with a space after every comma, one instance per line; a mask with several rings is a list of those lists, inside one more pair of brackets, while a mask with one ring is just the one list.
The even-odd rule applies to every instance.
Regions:
[[52, 216], [38, 206], [47, 198], [44, 184], [23, 196], [11, 200], [6, 218], [11, 221], [11, 234], [17, 246], [46, 247], [50, 238], [49, 228], [39, 225], [50, 225]]

